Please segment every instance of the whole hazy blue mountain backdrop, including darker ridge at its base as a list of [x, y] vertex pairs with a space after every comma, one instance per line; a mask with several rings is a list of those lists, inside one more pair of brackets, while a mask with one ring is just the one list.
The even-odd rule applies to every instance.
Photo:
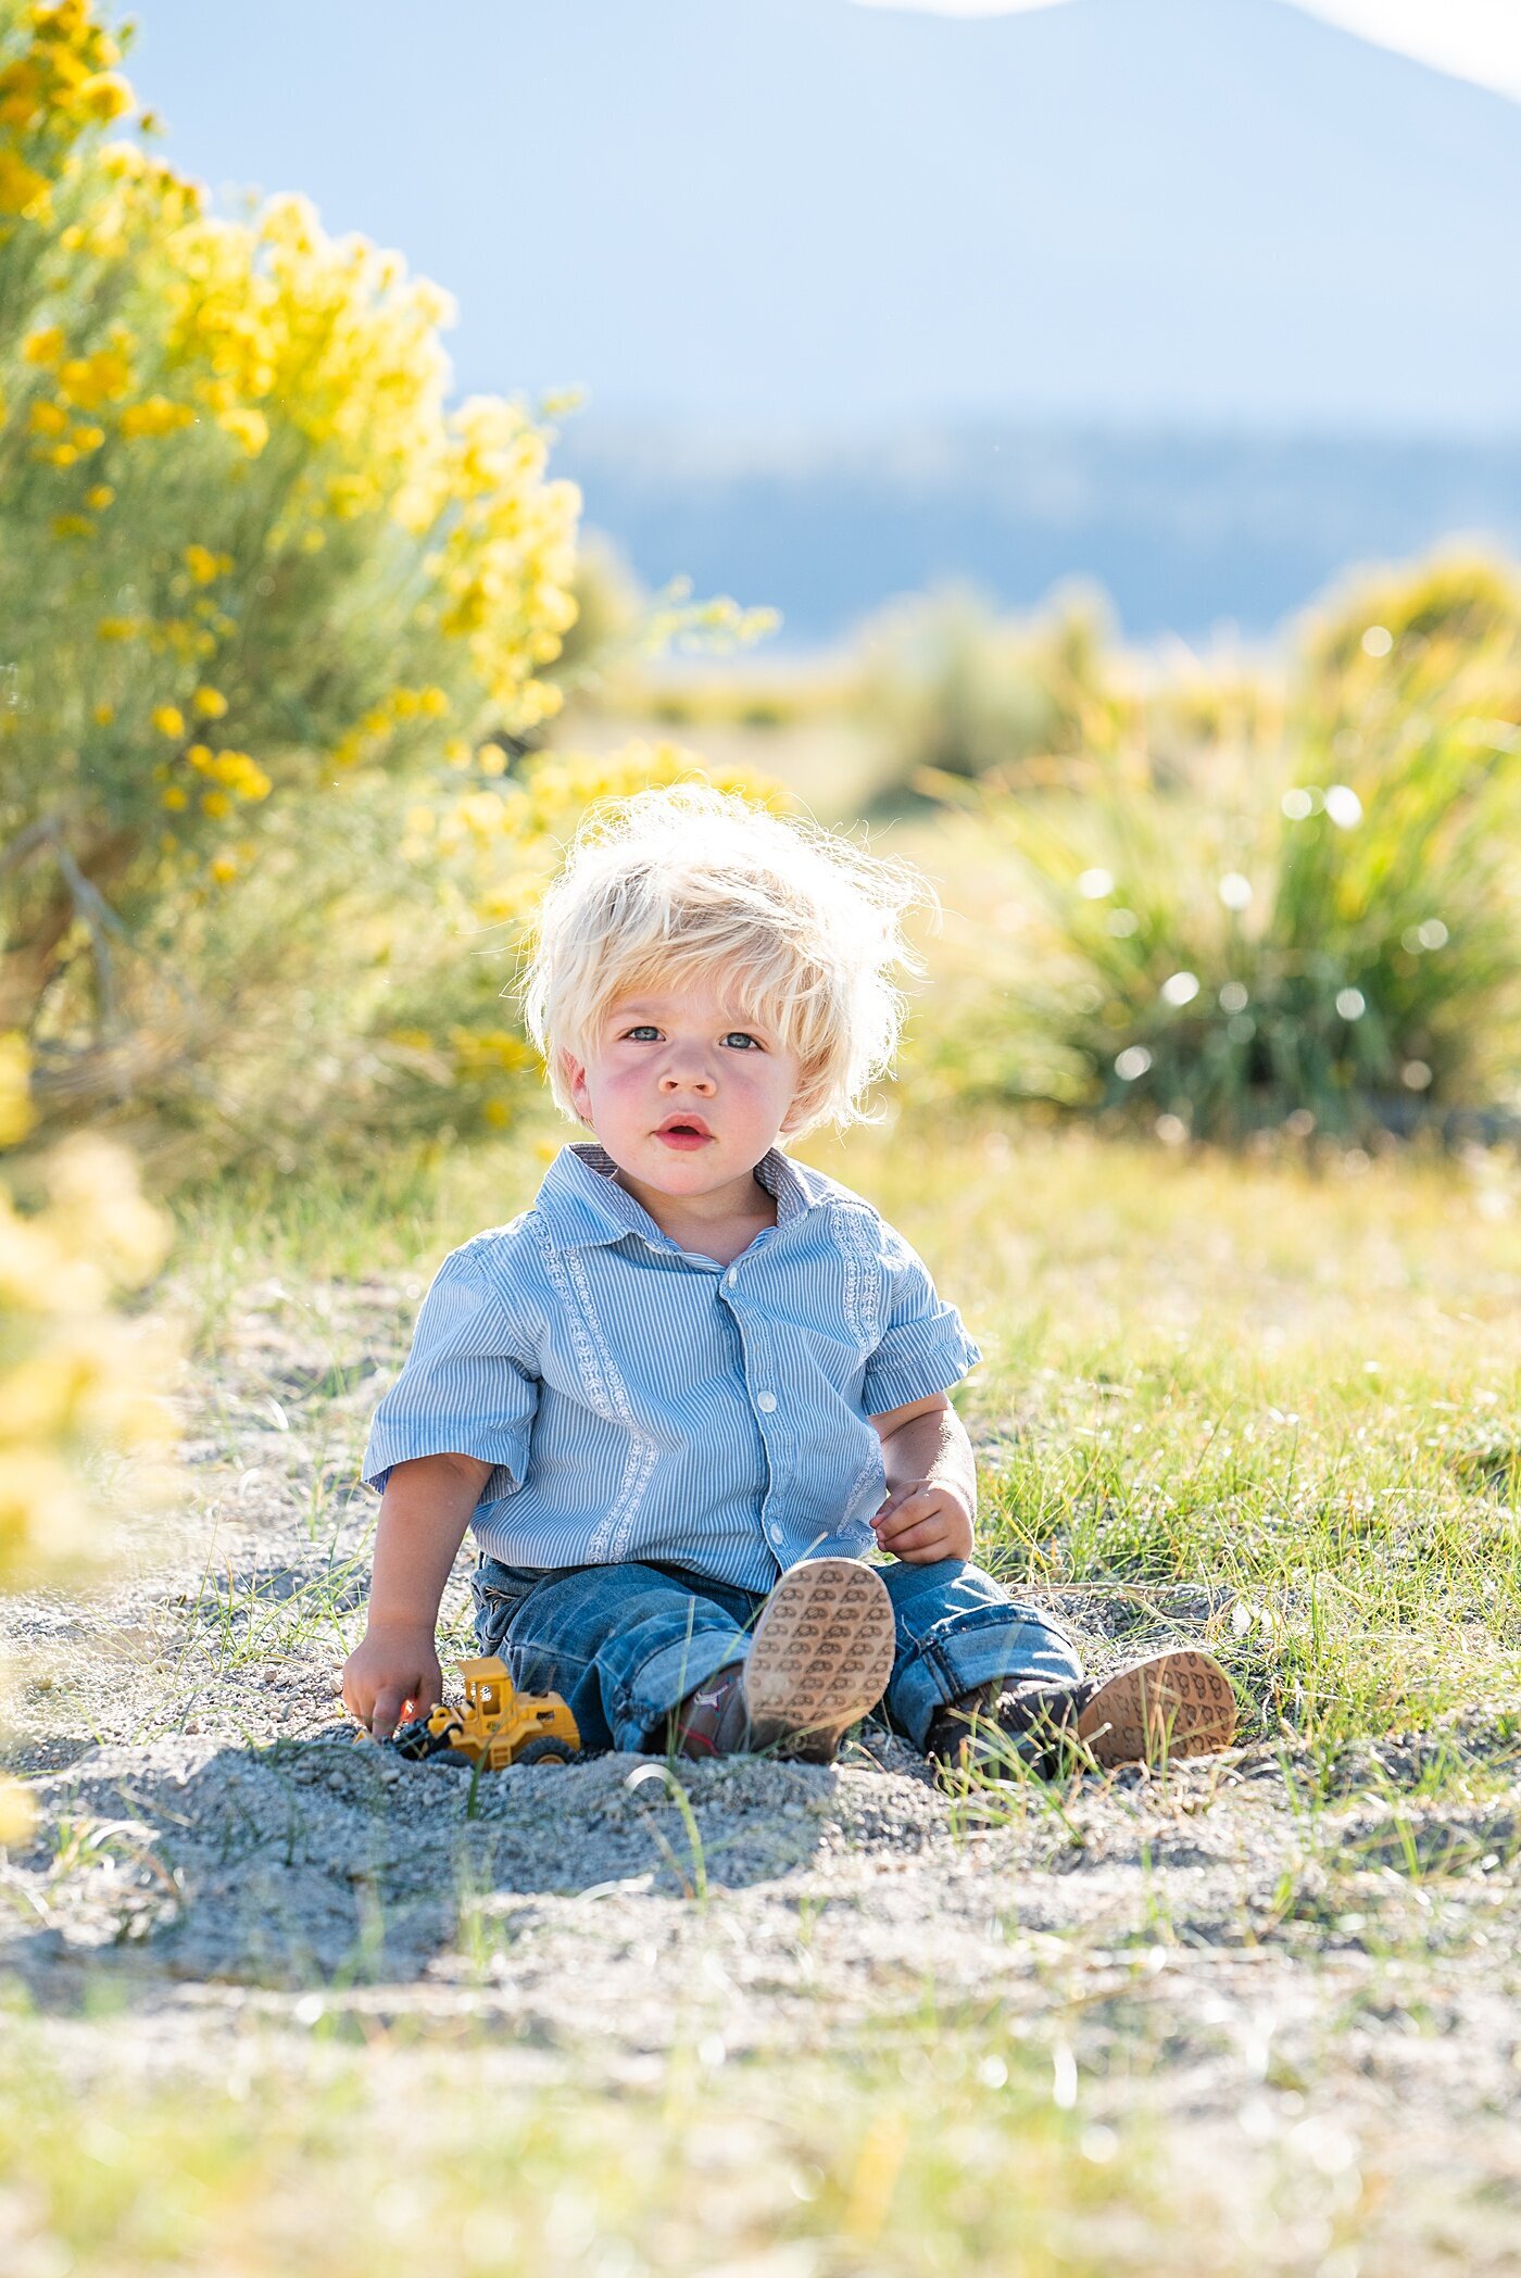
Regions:
[[1521, 547], [1521, 105], [1282, 0], [134, 16], [175, 162], [401, 246], [462, 390], [585, 383], [590, 519], [792, 642], [1070, 574], [1259, 633]]

